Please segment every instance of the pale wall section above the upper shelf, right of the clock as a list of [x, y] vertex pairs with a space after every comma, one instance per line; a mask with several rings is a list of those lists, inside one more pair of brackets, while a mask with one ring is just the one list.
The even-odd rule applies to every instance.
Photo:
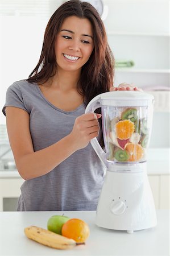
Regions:
[[169, 0], [105, 0], [107, 31], [169, 34]]

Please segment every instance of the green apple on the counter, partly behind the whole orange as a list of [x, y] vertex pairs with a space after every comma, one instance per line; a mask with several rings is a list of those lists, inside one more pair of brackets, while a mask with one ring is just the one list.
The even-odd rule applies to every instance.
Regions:
[[63, 224], [69, 219], [70, 218], [67, 216], [54, 215], [51, 218], [49, 218], [47, 222], [47, 229], [57, 234], [61, 234]]

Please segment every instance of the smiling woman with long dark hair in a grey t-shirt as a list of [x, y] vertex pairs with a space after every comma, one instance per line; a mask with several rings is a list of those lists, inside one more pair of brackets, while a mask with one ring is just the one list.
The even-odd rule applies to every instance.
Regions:
[[96, 9], [81, 1], [61, 5], [47, 24], [38, 65], [6, 94], [9, 141], [26, 180], [17, 210], [96, 209], [104, 167], [89, 142], [103, 144], [101, 114], [84, 112], [109, 91], [113, 70]]

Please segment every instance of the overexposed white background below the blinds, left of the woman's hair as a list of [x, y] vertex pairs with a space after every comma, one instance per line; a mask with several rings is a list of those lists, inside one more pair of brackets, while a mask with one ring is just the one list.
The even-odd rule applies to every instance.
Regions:
[[[5, 104], [7, 87], [27, 79], [37, 64], [46, 23], [47, 20], [36, 17], [0, 17], [0, 109]], [[0, 123], [5, 123], [2, 112], [0, 117]]]

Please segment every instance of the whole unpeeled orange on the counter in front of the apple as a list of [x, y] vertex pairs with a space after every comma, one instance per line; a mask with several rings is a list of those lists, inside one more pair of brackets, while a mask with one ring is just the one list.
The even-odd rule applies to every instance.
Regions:
[[86, 222], [79, 218], [71, 218], [64, 223], [61, 234], [64, 237], [72, 238], [76, 242], [85, 242], [89, 237], [90, 229]]

